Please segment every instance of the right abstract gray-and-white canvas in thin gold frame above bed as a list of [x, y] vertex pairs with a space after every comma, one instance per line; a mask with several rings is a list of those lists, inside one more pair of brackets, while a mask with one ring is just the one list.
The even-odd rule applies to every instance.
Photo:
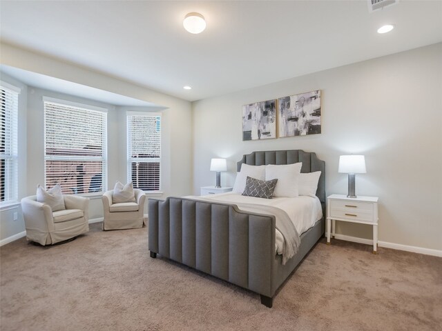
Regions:
[[278, 99], [279, 137], [320, 133], [320, 90]]

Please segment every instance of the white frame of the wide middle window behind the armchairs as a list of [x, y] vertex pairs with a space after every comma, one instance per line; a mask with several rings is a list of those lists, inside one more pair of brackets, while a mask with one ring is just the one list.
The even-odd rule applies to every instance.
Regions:
[[[81, 197], [93, 197], [93, 196], [101, 196], [104, 192], [107, 190], [107, 177], [108, 177], [108, 137], [107, 137], [107, 112], [108, 110], [106, 108], [97, 107], [97, 106], [91, 106], [86, 105], [84, 103], [77, 103], [73, 101], [68, 100], [61, 100], [61, 99], [55, 99], [51, 97], [43, 97], [44, 101], [44, 183], [45, 187], [48, 188], [48, 185], [46, 183], [46, 161], [101, 161], [102, 162], [102, 188], [101, 190], [97, 192], [82, 192], [82, 193], [69, 193], [69, 194], [75, 194], [79, 195]], [[73, 155], [48, 155], [46, 154], [46, 103], [52, 103], [56, 104], [62, 107], [71, 107], [71, 108], [77, 108], [80, 110], [86, 110], [89, 112], [102, 112], [104, 113], [104, 126], [102, 128], [102, 156], [101, 157], [93, 157], [93, 156], [73, 156]], [[85, 188], [85, 187], [84, 187]], [[64, 193], [67, 194], [67, 193]]]

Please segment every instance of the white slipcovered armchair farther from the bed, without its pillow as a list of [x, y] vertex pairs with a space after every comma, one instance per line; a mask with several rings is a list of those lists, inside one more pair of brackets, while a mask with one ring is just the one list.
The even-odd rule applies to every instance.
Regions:
[[38, 202], [35, 195], [21, 199], [26, 239], [51, 245], [89, 231], [89, 199], [74, 195], [64, 195], [63, 199], [66, 209], [57, 212]]

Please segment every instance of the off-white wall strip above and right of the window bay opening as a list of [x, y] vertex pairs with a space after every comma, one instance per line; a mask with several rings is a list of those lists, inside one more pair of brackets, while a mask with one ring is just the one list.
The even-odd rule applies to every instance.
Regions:
[[[99, 88], [166, 108], [163, 112], [163, 197], [189, 194], [192, 190], [191, 103], [99, 72], [23, 50], [0, 45], [0, 63], [50, 77]], [[120, 118], [121, 120], [121, 118]]]

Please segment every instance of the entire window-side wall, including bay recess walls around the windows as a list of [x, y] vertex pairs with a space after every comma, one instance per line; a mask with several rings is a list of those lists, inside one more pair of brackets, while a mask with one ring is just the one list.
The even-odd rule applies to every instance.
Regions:
[[[136, 108], [137, 111], [162, 112], [162, 187], [160, 198], [169, 195], [186, 195], [192, 191], [192, 134], [191, 103], [161, 94], [126, 81], [119, 81], [103, 74], [85, 70], [68, 63], [57, 61], [1, 44], [2, 64], [15, 66], [46, 74], [59, 79], [73, 81], [93, 88], [125, 95], [162, 105], [157, 108]], [[66, 99], [78, 103], [108, 108], [108, 188], [115, 181], [126, 181], [126, 110], [134, 108], [117, 107], [69, 96], [58, 92], [26, 87], [23, 83], [1, 73], [1, 79], [23, 87], [19, 99], [19, 135], [22, 147], [19, 149], [21, 168], [19, 169], [19, 199], [35, 194], [38, 183], [44, 183], [44, 108], [42, 96]], [[16, 84], [15, 84], [16, 83]], [[26, 88], [28, 92], [26, 93]], [[27, 96], [26, 96], [27, 94]], [[24, 142], [23, 143], [23, 139]], [[147, 203], [146, 203], [147, 204]], [[146, 209], [147, 210], [147, 209]], [[19, 212], [19, 219], [12, 221], [13, 212]], [[89, 217], [102, 217], [101, 197], [90, 199]], [[25, 230], [19, 206], [11, 210], [1, 210], [0, 239], [6, 239]]]

